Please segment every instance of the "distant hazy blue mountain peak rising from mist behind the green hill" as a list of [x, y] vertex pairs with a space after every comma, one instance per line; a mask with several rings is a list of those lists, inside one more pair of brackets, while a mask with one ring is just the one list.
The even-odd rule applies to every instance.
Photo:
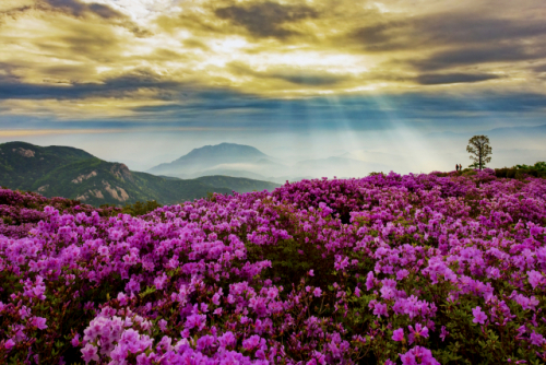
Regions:
[[268, 155], [258, 149], [236, 143], [221, 143], [194, 149], [171, 163], [161, 164], [147, 170], [150, 174], [187, 176], [222, 164], [256, 163]]

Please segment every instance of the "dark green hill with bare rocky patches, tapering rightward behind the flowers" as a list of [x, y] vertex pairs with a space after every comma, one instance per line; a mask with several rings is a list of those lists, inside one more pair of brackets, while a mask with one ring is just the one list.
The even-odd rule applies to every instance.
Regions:
[[210, 192], [273, 190], [278, 185], [228, 176], [187, 180], [161, 177], [131, 172], [123, 164], [78, 149], [10, 142], [0, 144], [0, 186], [100, 205], [146, 200], [173, 204]]

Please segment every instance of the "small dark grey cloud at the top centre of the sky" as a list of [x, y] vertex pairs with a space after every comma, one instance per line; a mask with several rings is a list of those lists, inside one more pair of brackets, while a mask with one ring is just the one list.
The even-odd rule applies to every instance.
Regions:
[[245, 27], [257, 38], [286, 38], [298, 32], [284, 27], [287, 23], [317, 17], [316, 10], [305, 5], [283, 5], [277, 2], [254, 2], [249, 5], [229, 5], [215, 10], [216, 16]]

